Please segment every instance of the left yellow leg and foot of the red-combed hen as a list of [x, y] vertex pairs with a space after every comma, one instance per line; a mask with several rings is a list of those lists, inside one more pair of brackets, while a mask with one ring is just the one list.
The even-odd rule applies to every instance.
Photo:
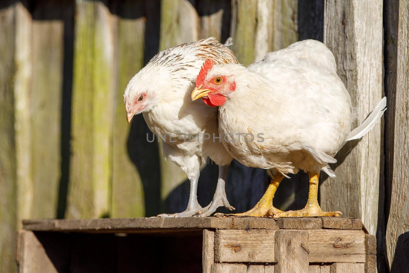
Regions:
[[282, 212], [281, 210], [274, 208], [273, 206], [273, 197], [277, 190], [277, 187], [280, 185], [281, 180], [283, 180], [284, 176], [282, 174], [276, 174], [268, 185], [267, 190], [265, 191], [263, 197], [261, 197], [260, 201], [252, 208], [243, 213], [232, 213], [226, 214], [228, 216], [253, 216], [253, 217], [264, 217], [267, 215], [269, 210], [273, 210], [275, 212]]

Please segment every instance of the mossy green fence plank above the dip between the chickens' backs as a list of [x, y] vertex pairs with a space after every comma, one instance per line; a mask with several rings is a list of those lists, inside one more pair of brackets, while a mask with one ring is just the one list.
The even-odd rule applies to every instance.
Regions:
[[233, 0], [231, 14], [231, 50], [238, 61], [247, 66], [254, 62], [256, 36], [256, 0]]

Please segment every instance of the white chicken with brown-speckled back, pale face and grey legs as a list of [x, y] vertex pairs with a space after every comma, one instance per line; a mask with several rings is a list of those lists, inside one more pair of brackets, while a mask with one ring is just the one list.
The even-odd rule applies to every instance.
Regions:
[[[192, 102], [190, 94], [200, 66], [207, 58], [215, 63], [238, 63], [227, 46], [210, 37], [171, 47], [156, 54], [132, 79], [124, 92], [127, 120], [142, 113], [149, 129], [162, 140], [163, 153], [187, 174], [190, 194], [187, 209], [161, 217], [209, 216], [227, 201], [225, 177], [232, 160], [217, 133], [217, 109]], [[213, 201], [202, 208], [197, 199], [200, 166], [210, 157], [219, 165]]]

